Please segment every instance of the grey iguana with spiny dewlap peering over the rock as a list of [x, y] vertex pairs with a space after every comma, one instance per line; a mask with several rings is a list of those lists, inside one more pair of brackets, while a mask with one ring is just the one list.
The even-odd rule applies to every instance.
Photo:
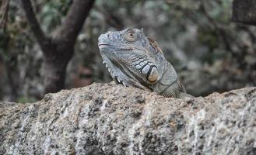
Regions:
[[155, 91], [165, 97], [192, 98], [156, 41], [146, 37], [142, 30], [107, 32], [100, 35], [98, 46], [103, 64], [116, 83]]

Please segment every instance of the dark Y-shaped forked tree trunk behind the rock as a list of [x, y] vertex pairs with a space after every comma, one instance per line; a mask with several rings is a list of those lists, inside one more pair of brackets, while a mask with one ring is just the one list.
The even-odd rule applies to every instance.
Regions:
[[44, 53], [44, 92], [57, 92], [65, 86], [65, 70], [74, 53], [75, 40], [82, 29], [94, 0], [74, 0], [64, 22], [55, 31], [57, 36], [44, 34], [30, 0], [22, 0], [26, 18]]

